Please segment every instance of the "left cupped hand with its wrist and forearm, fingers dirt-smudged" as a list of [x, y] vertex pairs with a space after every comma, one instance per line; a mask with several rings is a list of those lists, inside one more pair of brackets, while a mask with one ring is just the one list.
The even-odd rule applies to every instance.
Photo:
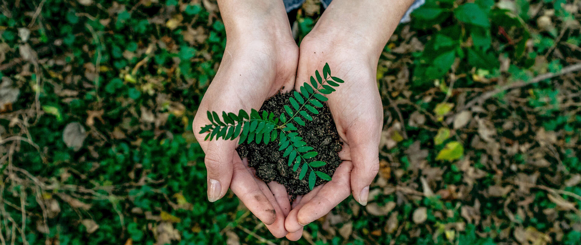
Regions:
[[[257, 179], [246, 159], [243, 161], [236, 152], [237, 140], [206, 141], [206, 134], [199, 134], [202, 126], [210, 124], [207, 111], [238, 113], [240, 109], [259, 109], [281, 87], [286, 91], [292, 88], [298, 47], [290, 33], [282, 2], [279, 5], [268, 2], [260, 5], [263, 8], [249, 3], [252, 9], [247, 10], [243, 9], [246, 5], [218, 2], [227, 44], [220, 68], [200, 102], [193, 130], [206, 153], [208, 200], [220, 199], [230, 187], [272, 235], [284, 237], [287, 233], [284, 219], [290, 211], [285, 187]], [[237, 14], [231, 15], [234, 12]], [[253, 12], [252, 16], [243, 16]]]

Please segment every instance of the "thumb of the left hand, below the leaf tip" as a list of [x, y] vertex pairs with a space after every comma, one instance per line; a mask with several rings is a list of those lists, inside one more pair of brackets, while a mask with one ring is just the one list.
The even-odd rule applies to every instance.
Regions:
[[235, 141], [210, 141], [206, 145], [206, 165], [208, 182], [208, 200], [211, 202], [222, 198], [228, 191], [232, 180], [232, 159], [238, 157]]

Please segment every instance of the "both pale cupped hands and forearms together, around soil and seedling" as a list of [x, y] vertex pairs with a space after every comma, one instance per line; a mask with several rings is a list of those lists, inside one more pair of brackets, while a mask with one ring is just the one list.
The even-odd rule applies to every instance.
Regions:
[[[381, 51], [413, 0], [333, 0], [300, 49], [290, 33], [282, 1], [218, 0], [227, 44], [220, 68], [193, 120], [196, 139], [206, 153], [208, 199], [222, 198], [228, 187], [275, 237], [298, 240], [303, 227], [326, 215], [353, 194], [366, 205], [379, 170], [378, 145], [383, 109], [376, 84]], [[237, 140], [204, 141], [200, 127], [206, 111], [237, 113], [259, 109], [281, 87], [289, 91], [329, 63], [345, 83], [327, 95], [327, 105], [343, 141], [343, 162], [331, 182], [297, 197], [257, 179], [236, 152]]]

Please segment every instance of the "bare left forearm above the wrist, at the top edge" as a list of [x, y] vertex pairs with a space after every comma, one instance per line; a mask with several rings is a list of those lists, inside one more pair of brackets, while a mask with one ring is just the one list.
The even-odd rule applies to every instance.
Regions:
[[218, 0], [228, 39], [290, 35], [282, 0]]

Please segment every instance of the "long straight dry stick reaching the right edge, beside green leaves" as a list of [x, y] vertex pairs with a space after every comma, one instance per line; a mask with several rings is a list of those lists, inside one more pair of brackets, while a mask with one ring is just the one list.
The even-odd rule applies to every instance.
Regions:
[[464, 111], [467, 108], [471, 108], [472, 106], [476, 105], [476, 103], [482, 103], [486, 100], [488, 100], [489, 98], [492, 98], [494, 95], [505, 91], [505, 90], [510, 90], [512, 88], [519, 88], [519, 87], [524, 87], [530, 84], [535, 84], [535, 83], [539, 83], [540, 81], [543, 81], [545, 79], [551, 79], [553, 77], [558, 77], [567, 73], [572, 73], [572, 72], [578, 72], [579, 70], [581, 70], [581, 63], [576, 63], [575, 65], [570, 65], [570, 66], [566, 66], [565, 68], [561, 69], [559, 72], [555, 72], [555, 73], [545, 73], [536, 77], [533, 77], [533, 79], [531, 79], [530, 81], [517, 81], [515, 83], [511, 83], [511, 84], [507, 84], [505, 86], [502, 86], [500, 88], [497, 88], [493, 91], [488, 91], [482, 95], [480, 95], [479, 97], [474, 98], [474, 100], [469, 101], [468, 103], [466, 103], [466, 105], [464, 105], [464, 107], [462, 107], [462, 109], [458, 110], [458, 112]]

